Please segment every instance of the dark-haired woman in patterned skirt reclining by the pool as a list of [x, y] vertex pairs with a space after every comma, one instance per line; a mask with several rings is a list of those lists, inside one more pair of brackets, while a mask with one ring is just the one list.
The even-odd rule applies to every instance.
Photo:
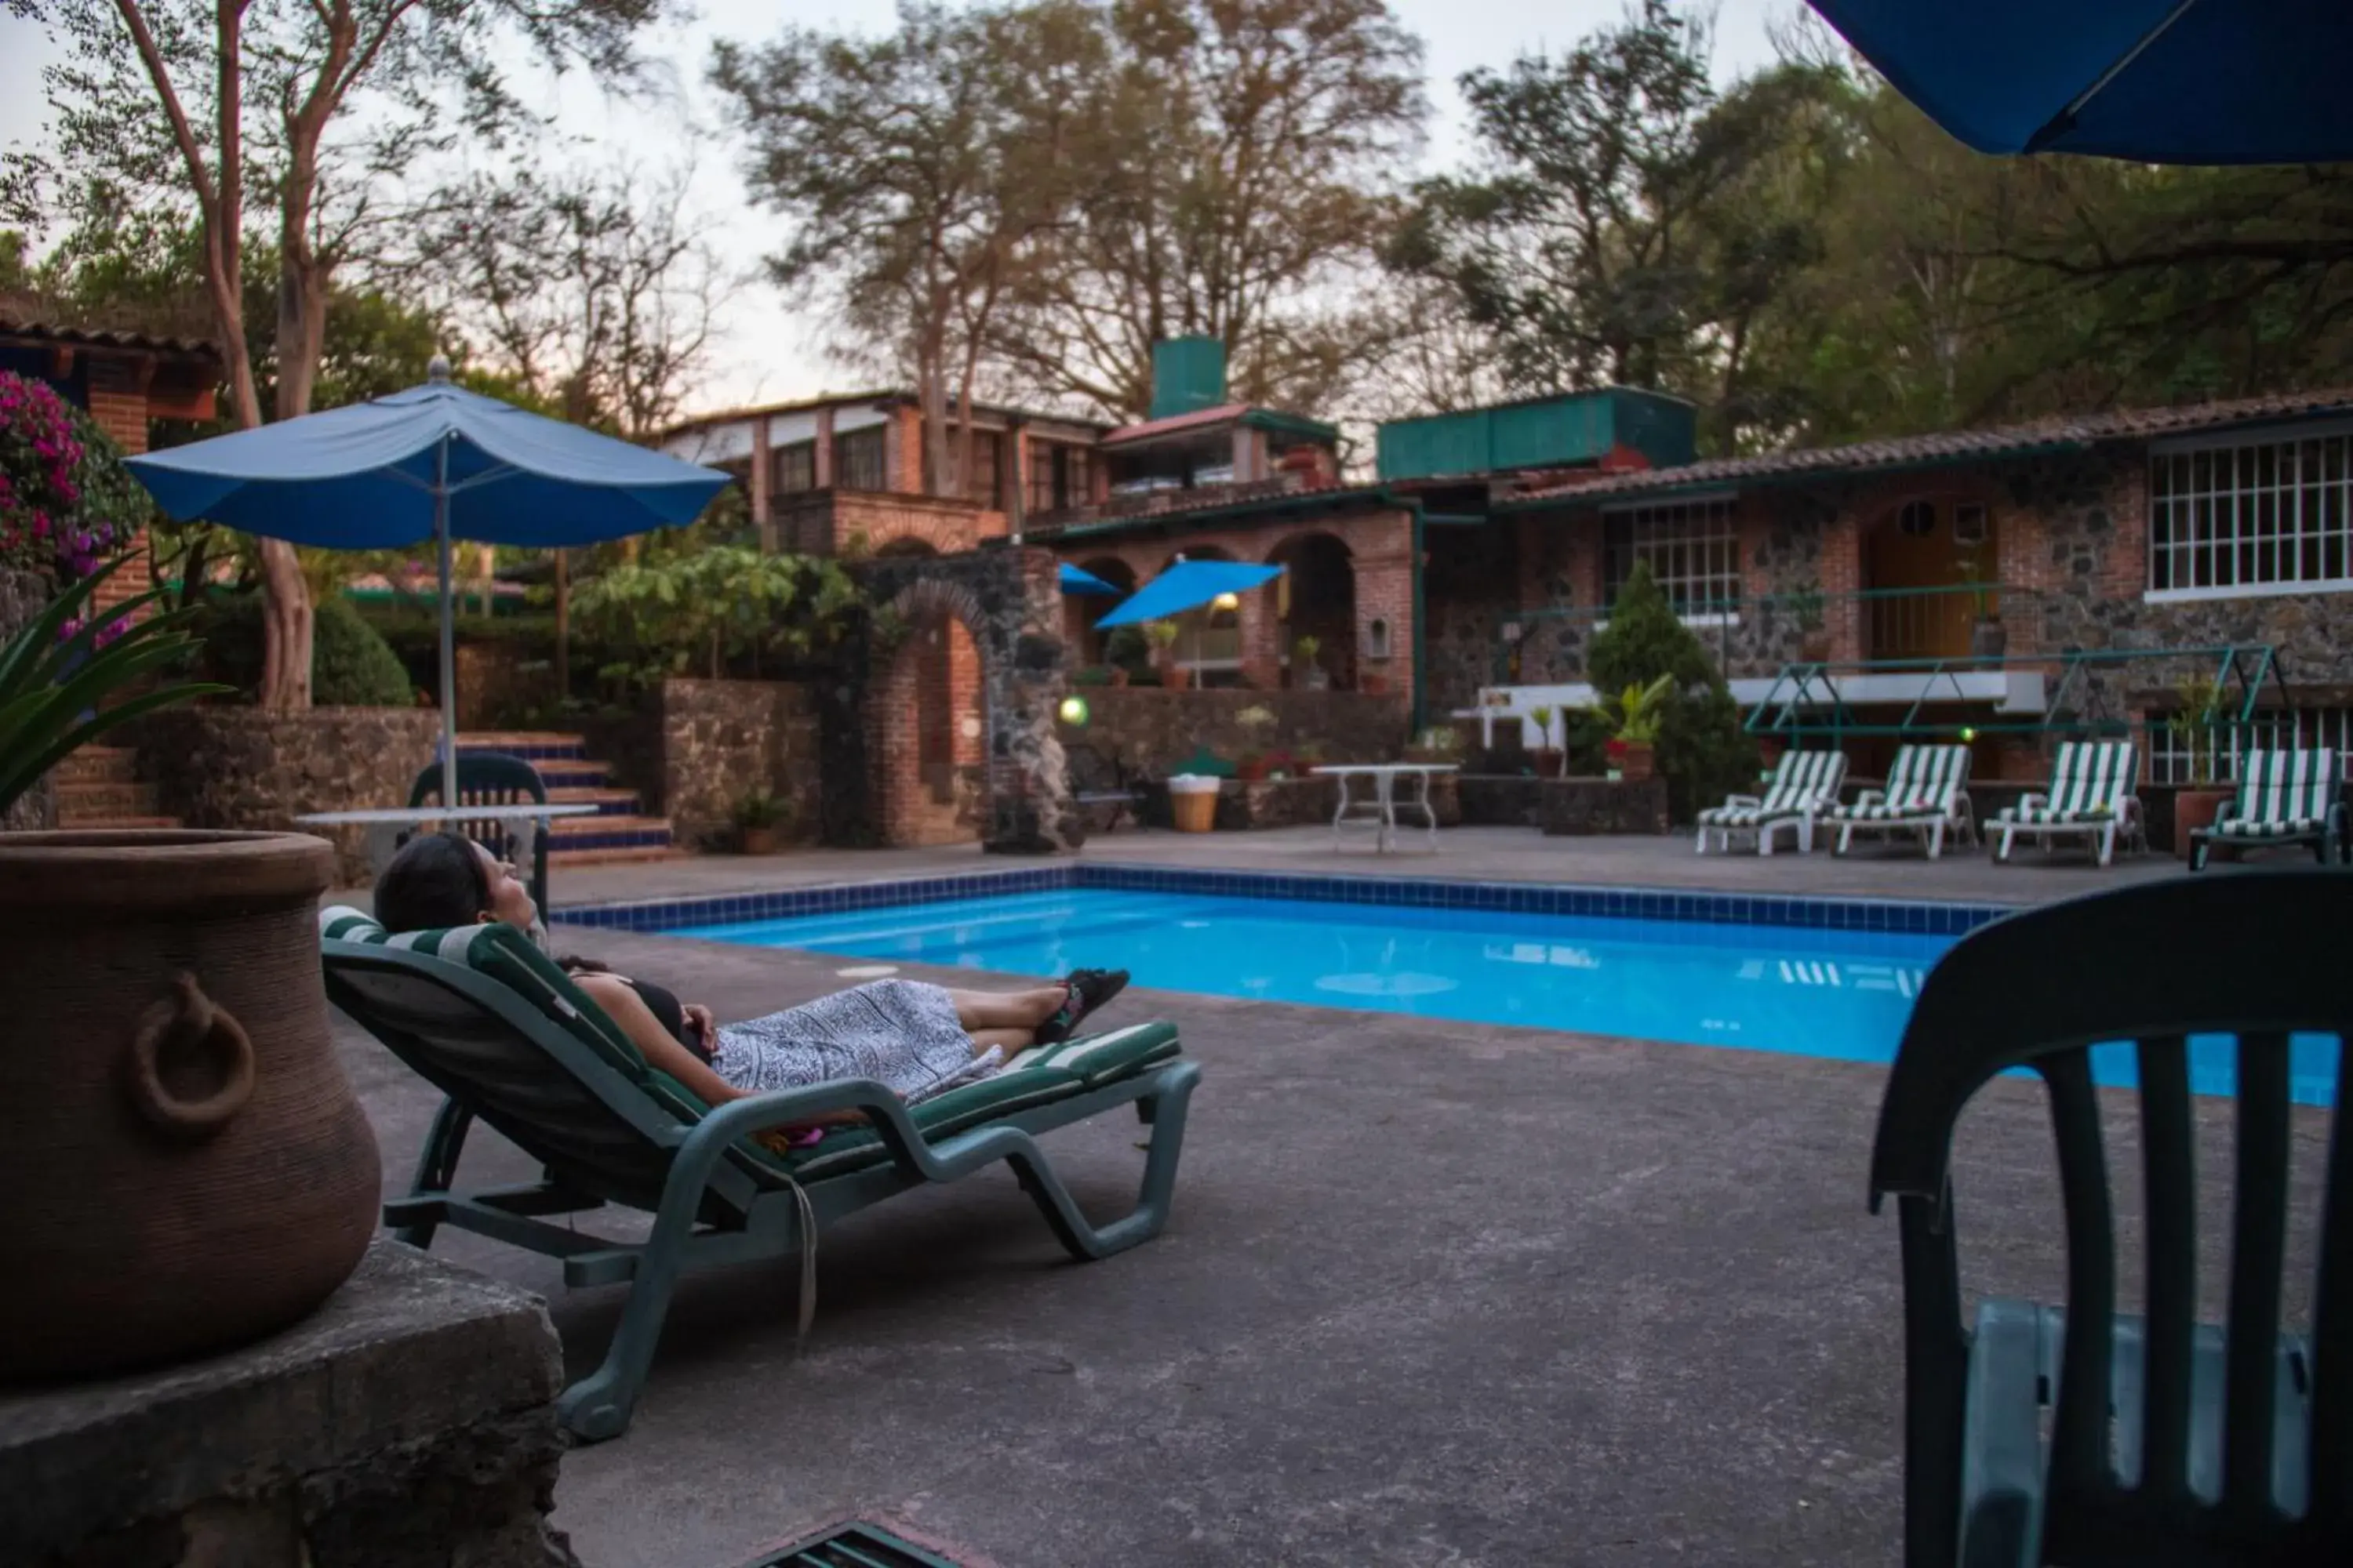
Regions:
[[[515, 867], [454, 832], [409, 839], [376, 877], [386, 931], [506, 922], [539, 924]], [[816, 1001], [720, 1025], [652, 980], [588, 959], [558, 959], [645, 1053], [708, 1105], [828, 1079], [875, 1079], [906, 1100], [984, 1079], [1033, 1044], [1066, 1039], [1120, 994], [1125, 969], [1078, 969], [1021, 992], [960, 992], [922, 980], [873, 980]], [[819, 1121], [861, 1121], [856, 1112]]]

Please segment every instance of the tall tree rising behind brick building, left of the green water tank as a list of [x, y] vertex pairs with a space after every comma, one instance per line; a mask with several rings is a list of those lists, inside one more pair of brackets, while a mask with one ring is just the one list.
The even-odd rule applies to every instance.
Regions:
[[1071, 0], [974, 12], [906, 0], [887, 38], [788, 28], [713, 56], [711, 80], [751, 141], [753, 195], [795, 221], [769, 275], [835, 303], [913, 371], [932, 494], [969, 489], [981, 357], [1031, 247], [1078, 195], [1068, 103], [1094, 49]]

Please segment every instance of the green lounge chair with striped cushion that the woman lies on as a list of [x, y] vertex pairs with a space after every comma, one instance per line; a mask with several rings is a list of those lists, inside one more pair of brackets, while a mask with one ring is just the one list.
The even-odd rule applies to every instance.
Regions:
[[[814, 1312], [816, 1234], [831, 1220], [925, 1182], [1007, 1161], [1073, 1258], [1108, 1258], [1160, 1234], [1176, 1190], [1186, 1103], [1200, 1067], [1176, 1030], [1144, 1023], [1026, 1051], [1005, 1072], [904, 1105], [864, 1079], [704, 1105], [645, 1065], [586, 992], [508, 926], [386, 936], [355, 910], [320, 914], [327, 999], [440, 1088], [409, 1197], [384, 1206], [402, 1241], [456, 1225], [560, 1258], [567, 1286], [628, 1284], [602, 1366], [565, 1389], [558, 1418], [584, 1441], [619, 1436], [654, 1359], [671, 1291], [687, 1269], [800, 1253], [802, 1328]], [[1092, 1225], [1033, 1133], [1134, 1105], [1151, 1124], [1136, 1208]], [[828, 1128], [776, 1154], [760, 1133], [835, 1110]], [[536, 1182], [456, 1190], [480, 1117], [541, 1161]], [[654, 1215], [645, 1241], [612, 1241], [548, 1218], [605, 1204]]]

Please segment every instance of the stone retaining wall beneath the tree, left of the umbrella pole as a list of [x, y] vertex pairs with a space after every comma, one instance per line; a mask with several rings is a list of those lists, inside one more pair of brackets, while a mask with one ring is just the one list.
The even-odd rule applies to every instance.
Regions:
[[[405, 806], [433, 762], [440, 715], [431, 708], [313, 708], [264, 712], [242, 705], [167, 708], [136, 719], [129, 745], [158, 806], [188, 827], [311, 832], [308, 811]], [[327, 830], [336, 879], [369, 879], [358, 827]]]

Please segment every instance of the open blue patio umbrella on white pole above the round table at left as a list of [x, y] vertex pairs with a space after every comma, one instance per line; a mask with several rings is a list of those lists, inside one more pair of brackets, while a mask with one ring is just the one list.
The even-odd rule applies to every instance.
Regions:
[[456, 802], [449, 541], [588, 545], [692, 522], [725, 484], [645, 447], [449, 383], [129, 458], [179, 520], [329, 550], [440, 545], [442, 802]]

